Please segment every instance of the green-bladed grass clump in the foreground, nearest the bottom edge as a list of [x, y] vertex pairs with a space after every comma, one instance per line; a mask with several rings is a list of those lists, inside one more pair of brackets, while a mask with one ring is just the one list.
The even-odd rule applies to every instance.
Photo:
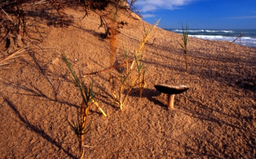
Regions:
[[[89, 119], [89, 112], [90, 108], [94, 105], [96, 106], [101, 113], [107, 117], [107, 115], [104, 113], [104, 111], [99, 107], [99, 104], [96, 102], [99, 97], [99, 93], [101, 89], [98, 90], [98, 92], [93, 93], [93, 78], [92, 81], [89, 84], [89, 87], [86, 87], [82, 81], [77, 78], [76, 74], [74, 73], [73, 69], [71, 68], [70, 63], [68, 62], [68, 59], [65, 55], [63, 55], [64, 61], [68, 66], [68, 69], [70, 70], [71, 74], [73, 75], [74, 83], [79, 88], [79, 93], [82, 97], [82, 103], [80, 107], [80, 115], [77, 115], [77, 121], [69, 122], [71, 129], [74, 131], [74, 133], [77, 136], [77, 139], [79, 141], [79, 151], [80, 151], [80, 158], [83, 158], [85, 155], [85, 134], [89, 131], [90, 125], [92, 122], [88, 123]], [[103, 87], [103, 85], [102, 85]], [[101, 87], [101, 88], [102, 88]]]

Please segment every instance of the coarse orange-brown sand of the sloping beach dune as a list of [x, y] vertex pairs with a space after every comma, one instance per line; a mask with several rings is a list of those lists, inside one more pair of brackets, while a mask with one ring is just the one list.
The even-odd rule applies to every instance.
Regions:
[[[61, 52], [85, 83], [88, 72], [110, 65], [110, 40], [102, 39], [99, 18], [82, 9], [66, 9], [70, 25], [61, 29], [54, 11], [38, 12], [40, 34], [32, 34], [30, 52], [1, 66], [0, 158], [77, 158], [76, 135], [67, 120], [77, 119], [81, 98]], [[129, 24], [117, 36], [115, 65], [123, 63], [123, 46], [135, 51], [142, 39], [142, 20], [119, 13]], [[161, 23], [161, 21], [160, 21]], [[31, 27], [35, 30], [35, 27]], [[155, 42], [153, 43], [153, 39]], [[123, 110], [108, 100], [105, 82], [98, 103], [107, 113], [90, 116], [85, 158], [256, 158], [256, 50], [189, 37], [188, 65], [179, 34], [155, 28], [146, 45], [146, 88], [130, 94]], [[23, 46], [20, 46], [23, 47]], [[1, 49], [3, 59], [20, 49]], [[118, 74], [118, 69], [113, 73]], [[95, 91], [108, 72], [94, 76]], [[155, 84], [188, 85], [174, 110]]]

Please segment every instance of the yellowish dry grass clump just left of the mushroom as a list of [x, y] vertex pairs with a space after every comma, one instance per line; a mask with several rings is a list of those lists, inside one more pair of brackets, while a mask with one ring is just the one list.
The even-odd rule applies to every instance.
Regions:
[[113, 82], [111, 82], [111, 94], [113, 98], [110, 98], [111, 101], [114, 101], [118, 106], [120, 106], [120, 109], [122, 109], [132, 89], [137, 85], [139, 87], [139, 96], [142, 97], [142, 91], [146, 87], [146, 66], [143, 62], [143, 56], [145, 55], [146, 49], [145, 45], [151, 38], [150, 34], [152, 33], [152, 30], [157, 25], [158, 21], [149, 30], [146, 30], [144, 27], [143, 38], [138, 49], [136, 49], [132, 60], [129, 58], [130, 50], [125, 48], [123, 49], [124, 66], [121, 65], [123, 67], [121, 68], [120, 75], [116, 75]]

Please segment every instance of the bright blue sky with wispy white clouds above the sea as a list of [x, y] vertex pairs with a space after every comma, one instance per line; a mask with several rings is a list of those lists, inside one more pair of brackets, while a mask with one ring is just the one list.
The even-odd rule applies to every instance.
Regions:
[[145, 1], [136, 2], [143, 20], [154, 24], [161, 18], [161, 28], [182, 28], [182, 23], [188, 23], [189, 28], [256, 29], [256, 0]]

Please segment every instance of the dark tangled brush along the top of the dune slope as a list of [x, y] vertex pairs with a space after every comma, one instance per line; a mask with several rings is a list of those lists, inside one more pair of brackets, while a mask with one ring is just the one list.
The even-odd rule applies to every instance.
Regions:
[[[72, 22], [65, 12], [67, 7], [81, 6], [84, 8], [85, 15], [83, 18], [89, 15], [90, 11], [95, 12], [99, 15], [100, 24], [99, 27], [105, 29], [104, 37], [111, 35], [111, 30], [119, 32], [120, 28], [127, 25], [126, 21], [114, 20], [110, 17], [111, 12], [117, 14], [118, 9], [134, 11], [134, 3], [137, 0], [79, 0], [79, 1], [57, 1], [57, 0], [46, 0], [46, 1], [30, 1], [30, 0], [2, 0], [0, 3], [0, 44], [2, 41], [6, 41], [10, 34], [14, 37], [21, 36], [23, 44], [35, 40], [40, 42], [42, 40], [31, 37], [32, 34], [42, 34], [39, 31], [40, 26], [37, 25], [33, 18], [37, 15], [42, 15], [45, 12], [55, 10], [60, 17], [60, 26], [67, 27]], [[109, 7], [111, 5], [111, 7]], [[111, 8], [111, 9], [106, 9]], [[114, 26], [111, 25], [114, 23]], [[58, 24], [57, 21], [54, 24]], [[33, 28], [33, 29], [32, 29]], [[43, 38], [43, 37], [42, 37]]]

